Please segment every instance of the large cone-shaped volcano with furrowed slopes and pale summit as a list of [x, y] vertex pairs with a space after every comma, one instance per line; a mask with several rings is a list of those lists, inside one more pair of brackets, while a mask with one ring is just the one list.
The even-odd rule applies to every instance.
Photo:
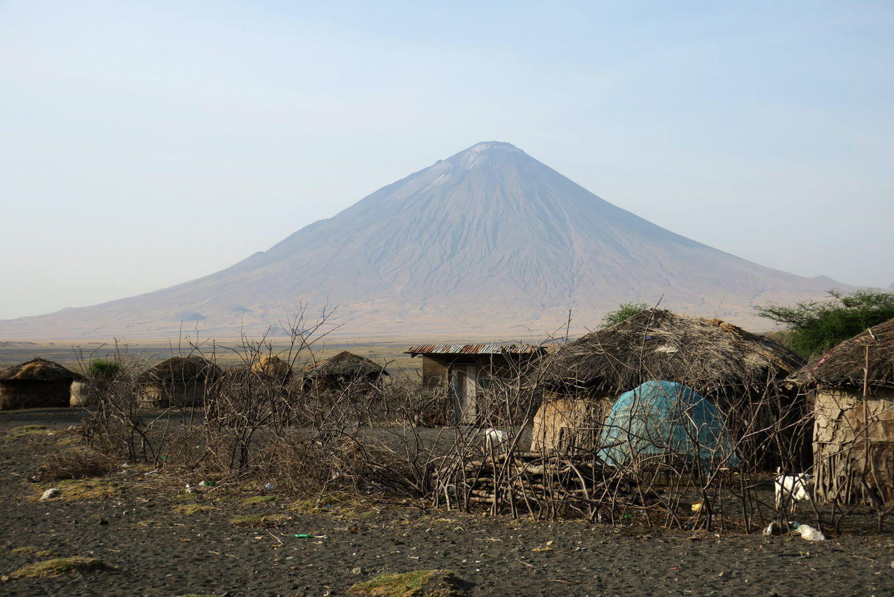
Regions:
[[207, 277], [91, 307], [0, 321], [0, 337], [282, 333], [337, 305], [342, 333], [542, 338], [620, 303], [751, 320], [819, 297], [828, 278], [764, 268], [600, 199], [509, 143], [409, 175]]

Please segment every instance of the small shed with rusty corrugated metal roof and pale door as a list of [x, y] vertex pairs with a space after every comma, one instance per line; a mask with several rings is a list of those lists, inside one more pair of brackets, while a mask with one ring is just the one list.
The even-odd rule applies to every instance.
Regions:
[[478, 399], [494, 378], [519, 377], [546, 354], [540, 345], [425, 344], [405, 354], [422, 356], [422, 391], [449, 397], [454, 424], [478, 421]]

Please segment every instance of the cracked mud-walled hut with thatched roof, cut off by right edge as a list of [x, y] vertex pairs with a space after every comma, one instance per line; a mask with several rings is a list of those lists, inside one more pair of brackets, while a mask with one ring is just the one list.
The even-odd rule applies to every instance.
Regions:
[[816, 498], [894, 504], [894, 320], [845, 340], [792, 380], [814, 405]]

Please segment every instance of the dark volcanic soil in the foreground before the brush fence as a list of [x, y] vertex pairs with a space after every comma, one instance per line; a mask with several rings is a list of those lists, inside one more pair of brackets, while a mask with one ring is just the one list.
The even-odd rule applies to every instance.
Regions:
[[[456, 572], [468, 595], [894, 594], [890, 533], [806, 542], [388, 505], [301, 514], [288, 499], [249, 506], [249, 494], [180, 493], [179, 483], [143, 471], [110, 475], [118, 483], [110, 498], [40, 501], [43, 486], [30, 476], [76, 437], [59, 431], [79, 420], [67, 409], [0, 413], [0, 574], [46, 559], [13, 553], [26, 546], [99, 558], [111, 569], [5, 580], [2, 595], [337, 595], [382, 572], [431, 568]], [[4, 440], [31, 423], [47, 431]], [[211, 509], [174, 512], [190, 503]], [[248, 514], [288, 517], [270, 528], [230, 523]]]

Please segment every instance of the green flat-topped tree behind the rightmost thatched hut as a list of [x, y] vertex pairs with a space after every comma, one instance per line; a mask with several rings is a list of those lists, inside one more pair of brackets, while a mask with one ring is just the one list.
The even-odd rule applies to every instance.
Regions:
[[785, 344], [803, 356], [821, 354], [866, 328], [894, 318], [894, 294], [857, 290], [829, 291], [830, 300], [805, 301], [793, 307], [768, 303], [755, 307], [761, 317], [786, 326]]

